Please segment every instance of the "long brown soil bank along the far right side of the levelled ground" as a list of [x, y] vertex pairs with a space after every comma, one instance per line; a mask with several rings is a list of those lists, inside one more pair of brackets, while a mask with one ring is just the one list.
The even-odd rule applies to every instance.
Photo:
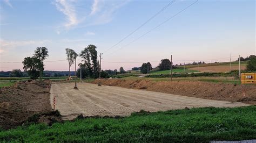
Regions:
[[[99, 80], [92, 83], [98, 83]], [[124, 80], [101, 79], [103, 85], [117, 86], [131, 89], [164, 92], [182, 96], [214, 99], [221, 101], [243, 102], [256, 105], [256, 85], [241, 85], [231, 83], [213, 83], [201, 81], [152, 81], [152, 80]], [[242, 91], [245, 90], [245, 98]]]

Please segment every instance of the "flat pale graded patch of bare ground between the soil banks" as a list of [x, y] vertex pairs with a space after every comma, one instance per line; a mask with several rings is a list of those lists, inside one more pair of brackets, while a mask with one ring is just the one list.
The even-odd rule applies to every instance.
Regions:
[[55, 83], [51, 85], [50, 101], [57, 99], [56, 109], [63, 119], [73, 119], [80, 113], [84, 116], [129, 116], [140, 110], [156, 112], [172, 109], [197, 108], [205, 106], [235, 107], [247, 106], [240, 102], [214, 101], [195, 97], [165, 94], [153, 91], [134, 90], [120, 87], [98, 87], [96, 84]]

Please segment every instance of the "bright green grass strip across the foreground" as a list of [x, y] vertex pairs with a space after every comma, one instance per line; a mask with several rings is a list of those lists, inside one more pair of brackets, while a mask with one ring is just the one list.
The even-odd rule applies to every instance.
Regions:
[[2, 142], [208, 142], [256, 138], [256, 106], [132, 113], [1, 131]]

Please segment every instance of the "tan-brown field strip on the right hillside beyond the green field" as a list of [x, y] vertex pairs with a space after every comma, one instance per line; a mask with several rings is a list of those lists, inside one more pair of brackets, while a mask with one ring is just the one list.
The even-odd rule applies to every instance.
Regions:
[[[241, 69], [244, 70], [246, 68], [245, 65], [241, 65]], [[189, 68], [191, 70], [198, 70], [201, 72], [210, 72], [210, 73], [218, 73], [218, 72], [228, 72], [230, 71], [230, 65], [220, 65], [220, 66], [207, 66], [207, 67], [194, 67]], [[231, 70], [239, 70], [238, 65], [232, 65]]]

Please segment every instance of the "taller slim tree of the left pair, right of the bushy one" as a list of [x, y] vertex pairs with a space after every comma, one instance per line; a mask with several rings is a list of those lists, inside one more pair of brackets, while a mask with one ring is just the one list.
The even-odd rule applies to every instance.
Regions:
[[46, 60], [49, 56], [48, 49], [46, 47], [37, 47], [35, 53], [33, 54], [34, 58], [37, 58], [42, 62], [42, 67], [40, 68], [40, 80], [42, 81], [43, 70], [44, 70], [44, 60]]

